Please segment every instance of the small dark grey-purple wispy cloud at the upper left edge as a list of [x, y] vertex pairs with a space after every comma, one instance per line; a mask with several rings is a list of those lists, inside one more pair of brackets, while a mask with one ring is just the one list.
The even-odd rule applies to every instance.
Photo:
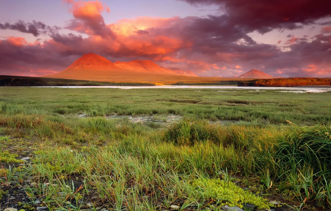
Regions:
[[19, 20], [14, 24], [11, 24], [9, 22], [0, 23], [0, 29], [16, 30], [23, 33], [33, 34], [33, 36], [37, 37], [40, 34], [53, 33], [54, 31], [59, 30], [60, 27], [58, 26], [51, 27], [43, 22], [35, 21], [35, 20], [33, 20], [32, 23], [29, 22], [26, 23], [24, 21]]

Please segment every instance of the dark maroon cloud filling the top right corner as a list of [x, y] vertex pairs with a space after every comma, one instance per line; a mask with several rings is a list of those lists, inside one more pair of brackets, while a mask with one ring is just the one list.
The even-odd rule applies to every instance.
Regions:
[[[233, 25], [266, 33], [272, 29], [301, 28], [301, 24], [330, 17], [330, 1], [182, 0], [192, 5], [218, 5]], [[300, 23], [300, 24], [298, 24]]]

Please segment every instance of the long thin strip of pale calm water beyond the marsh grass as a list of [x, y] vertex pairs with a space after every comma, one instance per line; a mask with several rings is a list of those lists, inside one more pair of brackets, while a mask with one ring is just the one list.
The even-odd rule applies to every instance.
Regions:
[[249, 86], [37, 86], [38, 88], [118, 88], [118, 89], [281, 89], [280, 92], [327, 92], [331, 88], [304, 88], [304, 87], [249, 87]]

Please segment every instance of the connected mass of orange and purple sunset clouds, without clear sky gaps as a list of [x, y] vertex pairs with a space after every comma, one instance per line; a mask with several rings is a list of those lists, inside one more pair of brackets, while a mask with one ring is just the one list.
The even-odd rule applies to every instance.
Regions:
[[[36, 27], [38, 32], [35, 34], [48, 34], [49, 39], [44, 42], [28, 43], [22, 37], [0, 40], [1, 73], [12, 70], [15, 74], [41, 75], [47, 71], [60, 71], [83, 54], [93, 52], [112, 61], [149, 59], [164, 67], [180, 67], [210, 76], [238, 75], [261, 67], [267, 73], [285, 77], [329, 74], [331, 35], [325, 32], [328, 30], [324, 28], [329, 27], [325, 22], [320, 23], [325, 25], [320, 34], [309, 41], [293, 32], [289, 33], [289, 40], [279, 40], [278, 45], [272, 45], [256, 42], [248, 35], [254, 31], [265, 33], [273, 29], [300, 28], [329, 15], [329, 11], [318, 5], [306, 10], [310, 8], [306, 0], [298, 1], [297, 6], [288, 1], [267, 4], [258, 0], [187, 0], [191, 4], [216, 4], [223, 14], [185, 18], [137, 17], [111, 24], [106, 24], [102, 16], [110, 10], [100, 1], [66, 2], [73, 16], [66, 28], [72, 32], [61, 34], [59, 30], [40, 26]], [[283, 5], [286, 7], [280, 10]], [[320, 13], [316, 8], [321, 9]], [[305, 13], [297, 11], [300, 9], [306, 10]], [[25, 29], [18, 26], [13, 29], [28, 31], [28, 24], [23, 24]], [[234, 69], [230, 69], [233, 66]]]

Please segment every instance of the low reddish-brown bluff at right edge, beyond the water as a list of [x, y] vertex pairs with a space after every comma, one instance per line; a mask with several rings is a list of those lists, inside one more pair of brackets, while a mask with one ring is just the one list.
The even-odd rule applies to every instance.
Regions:
[[238, 86], [331, 86], [331, 78], [273, 78], [256, 79], [252, 81], [238, 81]]

